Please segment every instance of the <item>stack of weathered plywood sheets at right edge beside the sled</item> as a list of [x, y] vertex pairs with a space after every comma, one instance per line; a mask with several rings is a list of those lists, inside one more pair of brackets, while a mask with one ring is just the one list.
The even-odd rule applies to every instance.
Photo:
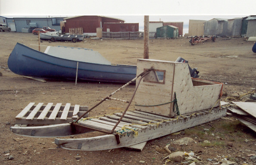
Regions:
[[235, 106], [228, 108], [232, 115], [256, 132], [256, 102], [232, 102]]

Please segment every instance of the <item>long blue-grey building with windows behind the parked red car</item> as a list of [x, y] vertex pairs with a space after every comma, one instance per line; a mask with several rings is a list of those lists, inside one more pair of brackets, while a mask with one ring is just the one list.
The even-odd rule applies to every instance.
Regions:
[[33, 17], [23, 17], [23, 18], [13, 18], [16, 32], [22, 32], [22, 29], [28, 29], [28, 32], [31, 32], [34, 28], [43, 28], [48, 26], [54, 28], [56, 31], [60, 29], [60, 22], [63, 21], [64, 17], [42, 17], [42, 18], [33, 18]]

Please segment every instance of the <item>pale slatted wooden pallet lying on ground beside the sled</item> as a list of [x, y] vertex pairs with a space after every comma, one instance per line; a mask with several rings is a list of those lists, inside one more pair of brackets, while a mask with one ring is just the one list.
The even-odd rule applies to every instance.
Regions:
[[[62, 124], [72, 122], [88, 110], [88, 106], [75, 105], [67, 103], [62, 106], [61, 103], [29, 103], [22, 112], [16, 116], [17, 125], [36, 125], [36, 124]], [[88, 117], [88, 114], [84, 117]]]

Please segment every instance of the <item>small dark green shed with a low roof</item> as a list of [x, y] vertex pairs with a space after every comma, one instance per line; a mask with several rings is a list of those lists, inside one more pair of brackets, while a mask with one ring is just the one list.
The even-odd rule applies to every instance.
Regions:
[[179, 29], [172, 25], [165, 25], [156, 28], [156, 38], [177, 38], [179, 37]]

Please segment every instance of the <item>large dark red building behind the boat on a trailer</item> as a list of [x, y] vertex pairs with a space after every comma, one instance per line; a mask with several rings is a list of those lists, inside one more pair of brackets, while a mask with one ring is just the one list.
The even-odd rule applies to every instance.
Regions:
[[122, 19], [116, 19], [105, 16], [75, 16], [64, 19], [65, 32], [69, 33], [69, 28], [82, 28], [83, 33], [96, 35], [97, 28], [103, 28], [104, 23], [124, 23]]

